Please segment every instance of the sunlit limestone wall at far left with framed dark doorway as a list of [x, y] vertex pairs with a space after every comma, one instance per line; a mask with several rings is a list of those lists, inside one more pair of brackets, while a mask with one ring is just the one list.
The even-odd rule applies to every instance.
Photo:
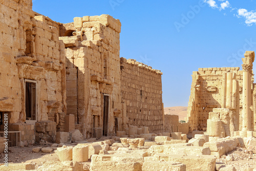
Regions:
[[[35, 16], [32, 0], [1, 1], [0, 9], [0, 112], [9, 112], [10, 123], [58, 124], [59, 114], [66, 113], [66, 59], [58, 24]], [[35, 89], [34, 119], [26, 116], [26, 82]]]

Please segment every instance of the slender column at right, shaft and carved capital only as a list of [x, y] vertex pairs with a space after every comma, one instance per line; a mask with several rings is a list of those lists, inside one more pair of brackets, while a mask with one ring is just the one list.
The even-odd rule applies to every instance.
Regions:
[[251, 130], [251, 110], [250, 110], [250, 96], [251, 96], [251, 80], [250, 80], [250, 64], [243, 64], [243, 123], [242, 131]]

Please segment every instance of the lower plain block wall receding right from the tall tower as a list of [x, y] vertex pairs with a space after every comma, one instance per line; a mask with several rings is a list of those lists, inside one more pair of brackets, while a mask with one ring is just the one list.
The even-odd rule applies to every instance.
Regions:
[[121, 58], [120, 66], [121, 97], [126, 105], [123, 127], [148, 126], [150, 132], [162, 132], [162, 73], [133, 59]]

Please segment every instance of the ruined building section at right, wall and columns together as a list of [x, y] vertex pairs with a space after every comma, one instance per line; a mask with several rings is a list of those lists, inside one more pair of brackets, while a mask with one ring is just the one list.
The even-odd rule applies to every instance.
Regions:
[[[193, 72], [187, 120], [189, 130], [206, 131], [209, 113], [214, 108], [230, 111], [234, 131], [255, 129], [255, 83], [252, 62], [254, 52], [246, 51], [243, 70], [237, 68], [200, 68]], [[214, 110], [218, 111], [218, 110]], [[233, 134], [231, 132], [231, 134]], [[241, 134], [241, 133], [240, 133]], [[243, 134], [243, 133], [242, 133]]]

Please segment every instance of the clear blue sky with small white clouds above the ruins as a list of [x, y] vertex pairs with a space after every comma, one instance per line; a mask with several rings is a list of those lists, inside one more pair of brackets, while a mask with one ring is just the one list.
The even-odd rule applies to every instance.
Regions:
[[193, 71], [241, 69], [244, 52], [256, 50], [255, 0], [33, 0], [33, 10], [59, 23], [101, 14], [120, 19], [120, 57], [163, 72], [165, 107], [187, 106]]

